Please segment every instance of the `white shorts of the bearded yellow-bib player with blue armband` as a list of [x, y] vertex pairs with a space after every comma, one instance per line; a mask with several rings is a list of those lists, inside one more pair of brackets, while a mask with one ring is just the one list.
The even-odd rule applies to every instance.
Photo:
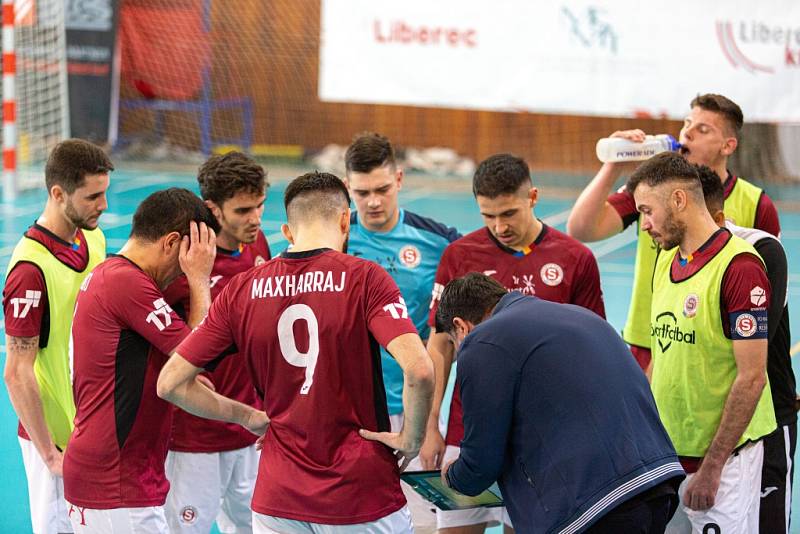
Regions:
[[667, 525], [668, 534], [699, 532], [704, 534], [752, 534], [758, 532], [761, 500], [761, 464], [764, 443], [758, 441], [732, 454], [722, 468], [714, 506], [691, 510], [683, 504], [688, 475], [678, 488], [681, 504]]

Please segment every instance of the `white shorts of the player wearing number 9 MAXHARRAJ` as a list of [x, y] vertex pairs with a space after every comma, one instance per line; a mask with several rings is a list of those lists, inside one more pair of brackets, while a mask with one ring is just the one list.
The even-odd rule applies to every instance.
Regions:
[[322, 525], [295, 521], [253, 512], [255, 534], [414, 534], [411, 513], [404, 506], [398, 511], [369, 523]]

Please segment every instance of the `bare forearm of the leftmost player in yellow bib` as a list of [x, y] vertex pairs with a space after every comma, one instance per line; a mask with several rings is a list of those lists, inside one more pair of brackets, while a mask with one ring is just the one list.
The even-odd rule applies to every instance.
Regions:
[[57, 455], [58, 450], [47, 430], [39, 383], [33, 370], [33, 362], [39, 348], [39, 336], [6, 336], [6, 347], [7, 357], [3, 378], [11, 405], [39, 455], [48, 462]]

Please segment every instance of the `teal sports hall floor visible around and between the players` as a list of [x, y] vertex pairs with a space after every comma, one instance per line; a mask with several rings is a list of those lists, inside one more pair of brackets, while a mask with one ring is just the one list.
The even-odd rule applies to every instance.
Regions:
[[[130, 230], [131, 216], [139, 202], [153, 191], [173, 185], [197, 191], [196, 180], [190, 173], [115, 171], [112, 174], [108, 195], [109, 209], [100, 219], [108, 240], [109, 252], [117, 251], [125, 242]], [[273, 254], [283, 250], [286, 245], [280, 233], [284, 220], [284, 185], [285, 182], [278, 181], [270, 188], [264, 211], [262, 228]], [[401, 205], [455, 226], [461, 232], [468, 232], [478, 228], [482, 222], [468, 188], [461, 189], [462, 192], [454, 192], [435, 185], [405, 187], [400, 194]], [[543, 193], [536, 207], [536, 215], [551, 226], [564, 230], [572, 206], [572, 200], [567, 199], [567, 196], [548, 198]], [[14, 245], [41, 212], [45, 198], [44, 191], [34, 191], [22, 194], [14, 203], [0, 203], [0, 265], [3, 273]], [[793, 352], [797, 353], [800, 351], [800, 311], [797, 311], [800, 310], [800, 213], [781, 212], [780, 218], [782, 240], [789, 259], [789, 306], [795, 310], [791, 315], [794, 333], [792, 347]], [[600, 265], [608, 320], [617, 329], [622, 328], [630, 298], [634, 239], [635, 235], [629, 230], [591, 245]], [[3, 339], [0, 352], [5, 363], [5, 338], [0, 339]], [[800, 372], [797, 359], [793, 361], [795, 373]], [[0, 473], [3, 479], [0, 483], [0, 532], [23, 533], [31, 530], [25, 473], [16, 430], [17, 419], [6, 389], [0, 387]], [[793, 509], [800, 510], [800, 494], [797, 491], [794, 492], [793, 502]], [[800, 533], [800, 525], [794, 527], [792, 532]]]

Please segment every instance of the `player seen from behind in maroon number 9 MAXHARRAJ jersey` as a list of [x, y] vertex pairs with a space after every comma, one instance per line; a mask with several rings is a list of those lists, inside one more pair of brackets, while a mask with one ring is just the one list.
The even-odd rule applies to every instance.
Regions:
[[[195, 415], [261, 432], [269, 424], [257, 533], [412, 532], [398, 461], [407, 465], [422, 444], [433, 369], [391, 277], [343, 253], [349, 201], [334, 175], [293, 180], [282, 228], [291, 251], [231, 281], [159, 378], [159, 395]], [[404, 373], [399, 433], [389, 432], [378, 344]], [[231, 346], [266, 414], [196, 387]]]

